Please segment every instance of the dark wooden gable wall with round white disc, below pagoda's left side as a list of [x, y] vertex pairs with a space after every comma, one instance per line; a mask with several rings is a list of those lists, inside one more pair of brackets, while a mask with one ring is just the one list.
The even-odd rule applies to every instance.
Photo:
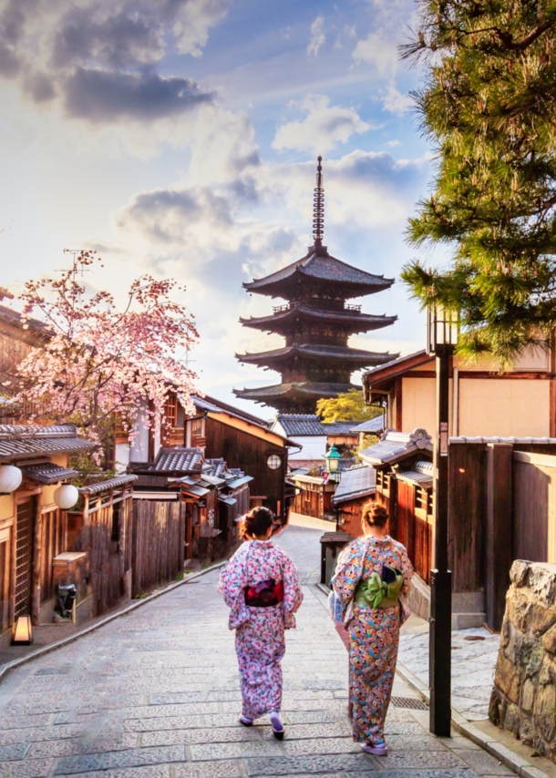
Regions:
[[[246, 476], [252, 476], [251, 495], [263, 496], [263, 505], [283, 518], [286, 449], [211, 418], [205, 420], [205, 435], [207, 459], [223, 457], [228, 467], [241, 467]], [[271, 454], [282, 458], [277, 470], [266, 464]]]

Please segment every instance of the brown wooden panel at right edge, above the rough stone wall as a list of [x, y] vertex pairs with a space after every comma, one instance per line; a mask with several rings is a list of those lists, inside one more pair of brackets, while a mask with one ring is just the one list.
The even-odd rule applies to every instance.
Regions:
[[556, 562], [556, 456], [515, 451], [513, 556]]

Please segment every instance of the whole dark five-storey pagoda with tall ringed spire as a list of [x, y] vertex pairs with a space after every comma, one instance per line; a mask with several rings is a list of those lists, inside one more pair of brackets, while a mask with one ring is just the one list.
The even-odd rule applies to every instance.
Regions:
[[336, 260], [323, 245], [324, 189], [322, 157], [318, 158], [313, 215], [314, 245], [301, 259], [262, 279], [243, 283], [248, 292], [287, 300], [268, 316], [240, 319], [246, 327], [283, 335], [282, 348], [236, 354], [242, 363], [257, 364], [282, 375], [282, 382], [257, 389], [234, 389], [243, 400], [272, 405], [280, 413], [314, 414], [321, 397], [335, 397], [350, 389], [356, 370], [384, 364], [398, 354], [350, 348], [354, 333], [379, 330], [396, 316], [363, 313], [361, 305], [346, 301], [382, 292], [394, 279], [361, 271]]

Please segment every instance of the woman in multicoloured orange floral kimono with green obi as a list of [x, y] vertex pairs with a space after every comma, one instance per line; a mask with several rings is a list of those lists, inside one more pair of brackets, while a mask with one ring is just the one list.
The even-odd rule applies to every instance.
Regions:
[[406, 548], [385, 535], [387, 521], [385, 507], [366, 503], [365, 535], [342, 550], [332, 578], [349, 635], [349, 717], [354, 741], [377, 756], [387, 753], [384, 723], [396, 672], [399, 628], [409, 616], [400, 598], [407, 595], [413, 575]]

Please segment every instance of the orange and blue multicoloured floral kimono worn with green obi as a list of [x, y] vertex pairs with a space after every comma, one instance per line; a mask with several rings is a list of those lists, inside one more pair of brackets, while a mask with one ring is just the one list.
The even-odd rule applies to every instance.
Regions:
[[353, 603], [355, 589], [371, 573], [382, 574], [383, 565], [401, 570], [407, 596], [413, 568], [401, 543], [386, 536], [357, 537], [338, 557], [332, 586], [341, 599], [349, 632], [349, 717], [355, 742], [384, 740], [384, 722], [396, 672], [399, 628], [409, 615], [398, 602], [391, 608], [372, 608]]

